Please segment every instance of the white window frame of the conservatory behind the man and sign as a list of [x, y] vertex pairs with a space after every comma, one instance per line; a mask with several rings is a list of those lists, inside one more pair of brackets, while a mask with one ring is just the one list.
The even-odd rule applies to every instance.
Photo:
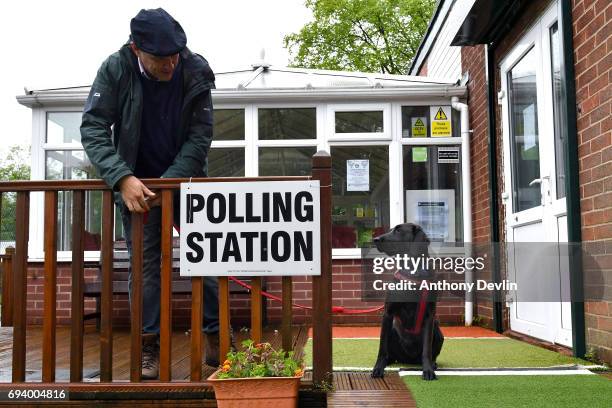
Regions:
[[[365, 103], [215, 103], [215, 109], [244, 109], [245, 139], [244, 140], [213, 140], [211, 148], [244, 148], [245, 176], [258, 175], [260, 147], [303, 147], [315, 146], [317, 151], [328, 153], [331, 146], [388, 146], [389, 149], [389, 221], [390, 226], [404, 221], [403, 170], [402, 149], [404, 145], [461, 145], [460, 137], [449, 138], [402, 138], [402, 106], [448, 105], [445, 98], [428, 98], [419, 101], [398, 99], [393, 102]], [[316, 138], [289, 140], [259, 140], [258, 109], [260, 108], [315, 108]], [[335, 115], [337, 111], [383, 111], [382, 133], [336, 134]], [[32, 180], [45, 178], [45, 151], [66, 150], [66, 146], [47, 145], [46, 118], [48, 112], [82, 112], [82, 107], [49, 107], [33, 109], [32, 126]], [[73, 150], [82, 150], [82, 146], [74, 146]], [[462, 191], [465, 194], [465, 191]], [[43, 260], [43, 209], [42, 193], [33, 193], [30, 212], [30, 261]], [[97, 261], [99, 251], [87, 251], [86, 261]], [[333, 259], [359, 259], [359, 248], [334, 248]], [[71, 251], [58, 253], [58, 261], [70, 261]]]

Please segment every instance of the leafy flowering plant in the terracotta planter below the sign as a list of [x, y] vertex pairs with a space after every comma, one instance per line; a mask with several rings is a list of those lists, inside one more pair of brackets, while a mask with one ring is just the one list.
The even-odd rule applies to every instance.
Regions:
[[217, 378], [299, 377], [303, 373], [303, 362], [293, 351], [275, 350], [270, 343], [245, 340], [242, 350], [227, 353]]

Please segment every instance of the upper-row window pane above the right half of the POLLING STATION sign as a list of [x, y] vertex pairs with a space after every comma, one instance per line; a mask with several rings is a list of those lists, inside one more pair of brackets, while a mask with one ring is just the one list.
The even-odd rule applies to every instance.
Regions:
[[259, 139], [316, 139], [316, 108], [258, 109]]

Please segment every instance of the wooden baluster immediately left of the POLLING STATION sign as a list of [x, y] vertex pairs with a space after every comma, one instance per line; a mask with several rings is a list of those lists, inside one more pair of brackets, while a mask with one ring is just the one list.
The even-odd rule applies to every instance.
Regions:
[[[159, 316], [159, 379], [172, 379], [172, 190], [163, 190], [161, 224], [161, 302]], [[201, 359], [200, 359], [201, 360]]]

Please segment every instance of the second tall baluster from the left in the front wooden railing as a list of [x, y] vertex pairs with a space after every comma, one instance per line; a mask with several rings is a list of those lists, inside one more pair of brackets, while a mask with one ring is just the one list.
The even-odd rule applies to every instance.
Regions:
[[55, 310], [57, 293], [57, 191], [45, 191], [45, 286], [42, 381], [55, 381]]

